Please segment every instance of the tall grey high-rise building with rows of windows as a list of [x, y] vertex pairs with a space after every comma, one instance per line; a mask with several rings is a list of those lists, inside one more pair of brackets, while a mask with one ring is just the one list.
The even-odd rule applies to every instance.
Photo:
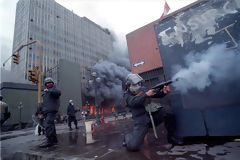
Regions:
[[[20, 50], [20, 63], [11, 69], [20, 73], [17, 79], [27, 82], [28, 70], [38, 66], [43, 55], [43, 71], [47, 73], [65, 59], [85, 68], [105, 59], [113, 50], [113, 38], [108, 29], [102, 28], [86, 17], [79, 17], [54, 0], [19, 0], [16, 8], [13, 51], [32, 40], [35, 43]], [[54, 74], [58, 80], [58, 74]]]

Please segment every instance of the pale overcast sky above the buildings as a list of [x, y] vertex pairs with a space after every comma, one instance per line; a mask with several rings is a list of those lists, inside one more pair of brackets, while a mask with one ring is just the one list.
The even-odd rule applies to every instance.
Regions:
[[[18, 0], [0, 0], [0, 47], [1, 66], [12, 53], [16, 3]], [[167, 0], [170, 12], [196, 0]], [[80, 17], [109, 28], [118, 36], [121, 45], [125, 35], [156, 19], [164, 7], [164, 0], [56, 0]]]

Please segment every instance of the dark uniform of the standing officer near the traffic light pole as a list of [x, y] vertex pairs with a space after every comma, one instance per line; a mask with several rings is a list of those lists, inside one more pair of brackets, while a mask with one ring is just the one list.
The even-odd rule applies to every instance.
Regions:
[[42, 112], [44, 115], [44, 128], [47, 142], [49, 144], [57, 143], [57, 135], [54, 120], [60, 107], [61, 92], [55, 86], [49, 88], [43, 93]]

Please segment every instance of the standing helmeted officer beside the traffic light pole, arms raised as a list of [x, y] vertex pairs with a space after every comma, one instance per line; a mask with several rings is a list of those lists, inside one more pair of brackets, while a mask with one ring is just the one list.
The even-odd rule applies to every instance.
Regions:
[[51, 147], [58, 143], [54, 120], [60, 107], [61, 96], [61, 91], [56, 88], [51, 77], [45, 78], [44, 85], [46, 88], [42, 94], [43, 103], [41, 107], [45, 119], [43, 126], [47, 140], [39, 146], [40, 148]]

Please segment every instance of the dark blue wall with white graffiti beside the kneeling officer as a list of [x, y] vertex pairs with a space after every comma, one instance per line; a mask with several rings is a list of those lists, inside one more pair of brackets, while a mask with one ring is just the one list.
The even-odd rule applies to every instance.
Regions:
[[[218, 51], [210, 49], [213, 53], [217, 52], [216, 56], [212, 57], [213, 60], [219, 58], [220, 52], [228, 56], [233, 53], [239, 54], [239, 20], [238, 0], [212, 0], [198, 1], [159, 22], [155, 30], [166, 78], [174, 77], [179, 70], [186, 69], [193, 60], [196, 62], [195, 65], [198, 65], [199, 58], [206, 55], [209, 48], [218, 45], [225, 45], [225, 48]], [[206, 72], [213, 69], [218, 71], [231, 62], [226, 62], [226, 59], [220, 60], [216, 63], [217, 67], [210, 67]], [[206, 88], [191, 88], [186, 93], [173, 90], [170, 99], [177, 118], [179, 135], [240, 135], [237, 123], [240, 120], [239, 77], [234, 75], [235, 78], [226, 85], [227, 78], [234, 77], [232, 74], [237, 66], [233, 67], [227, 73], [229, 76], [221, 82], [213, 81]], [[194, 66], [191, 67], [190, 69], [193, 69]], [[192, 72], [192, 76], [199, 74], [204, 67], [207, 67], [207, 64]], [[224, 74], [222, 72], [219, 76]], [[200, 74], [200, 78], [203, 76], [204, 72]], [[183, 76], [183, 79], [186, 77]], [[214, 78], [210, 75], [208, 82]], [[195, 78], [188, 81], [188, 85], [197, 84], [198, 81], [199, 79]]]

